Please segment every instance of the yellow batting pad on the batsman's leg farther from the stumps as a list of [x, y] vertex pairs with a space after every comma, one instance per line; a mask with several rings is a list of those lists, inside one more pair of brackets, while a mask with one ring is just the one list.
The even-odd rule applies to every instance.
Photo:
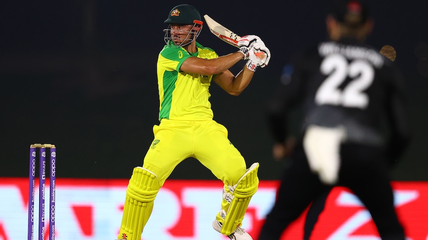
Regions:
[[224, 189], [223, 198], [229, 202], [229, 208], [225, 211], [221, 234], [230, 235], [237, 227], [241, 226], [251, 197], [259, 187], [258, 169], [259, 163], [253, 163], [236, 185]]

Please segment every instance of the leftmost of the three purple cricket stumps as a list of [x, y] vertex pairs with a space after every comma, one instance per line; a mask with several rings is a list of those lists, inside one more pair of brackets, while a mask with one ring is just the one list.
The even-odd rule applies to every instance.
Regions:
[[36, 184], [36, 146], [30, 146], [30, 173], [28, 174], [28, 240], [34, 239], [34, 192]]

